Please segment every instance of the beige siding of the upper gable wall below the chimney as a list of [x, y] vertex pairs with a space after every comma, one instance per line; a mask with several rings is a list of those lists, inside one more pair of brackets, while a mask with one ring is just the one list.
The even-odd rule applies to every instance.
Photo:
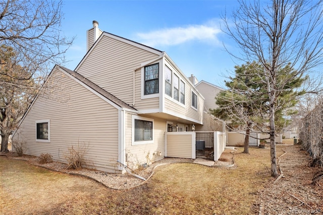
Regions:
[[[122, 101], [132, 104], [134, 70], [157, 57], [155, 53], [105, 35], [77, 72]], [[136, 75], [137, 94], [140, 93], [140, 69]], [[149, 100], [145, 102], [150, 103]]]

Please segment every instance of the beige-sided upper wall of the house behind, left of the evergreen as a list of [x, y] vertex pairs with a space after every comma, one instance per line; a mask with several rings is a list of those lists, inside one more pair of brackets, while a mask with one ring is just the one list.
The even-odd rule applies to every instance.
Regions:
[[207, 84], [203, 81], [199, 82], [195, 87], [203, 95], [205, 99], [204, 106], [206, 111], [208, 111], [209, 109], [218, 108], [215, 97], [221, 91], [220, 88], [213, 86], [211, 84]]

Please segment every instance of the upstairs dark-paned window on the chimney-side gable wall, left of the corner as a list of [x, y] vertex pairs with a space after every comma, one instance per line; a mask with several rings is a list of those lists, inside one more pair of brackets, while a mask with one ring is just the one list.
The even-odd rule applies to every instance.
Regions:
[[159, 64], [146, 66], [144, 69], [145, 95], [159, 92]]

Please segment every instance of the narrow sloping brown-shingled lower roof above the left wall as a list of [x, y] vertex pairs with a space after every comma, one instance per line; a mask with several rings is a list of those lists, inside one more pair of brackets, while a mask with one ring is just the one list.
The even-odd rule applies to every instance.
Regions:
[[65, 67], [56, 65], [56, 68], [60, 69], [61, 71], [63, 70], [64, 72], [68, 73], [71, 75], [72, 78], [77, 79], [78, 81], [80, 81], [81, 83], [85, 84], [86, 86], [88, 86], [90, 88], [90, 90], [92, 89], [93, 91], [95, 91], [96, 93], [99, 93], [100, 95], [102, 95], [104, 98], [112, 101], [114, 104], [116, 104], [117, 106], [119, 106], [122, 109], [128, 109], [130, 111], [137, 111], [135, 108], [133, 108], [132, 106], [130, 106], [129, 104], [123, 102], [122, 100], [120, 100], [119, 98], [117, 98], [116, 96], [112, 95], [111, 93], [105, 91], [104, 89], [102, 89], [101, 87], [97, 86], [96, 84], [94, 84], [93, 82], [91, 82], [90, 80], [86, 79], [85, 77], [83, 77], [82, 75], [78, 74], [75, 71], [72, 71], [70, 69], [67, 69]]

